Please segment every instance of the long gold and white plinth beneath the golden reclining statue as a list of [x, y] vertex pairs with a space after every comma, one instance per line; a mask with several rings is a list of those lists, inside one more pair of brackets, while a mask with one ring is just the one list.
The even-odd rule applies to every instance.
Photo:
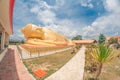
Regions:
[[21, 55], [21, 58], [28, 59], [28, 58], [46, 56], [46, 55], [70, 50], [70, 49], [72, 49], [72, 46], [28, 48], [26, 46], [18, 46], [17, 45], [17, 48]]

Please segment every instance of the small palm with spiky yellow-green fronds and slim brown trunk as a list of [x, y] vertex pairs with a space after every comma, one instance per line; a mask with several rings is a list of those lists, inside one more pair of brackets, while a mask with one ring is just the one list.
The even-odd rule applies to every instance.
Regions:
[[115, 56], [114, 52], [108, 46], [99, 45], [97, 48], [92, 48], [91, 53], [92, 57], [96, 62], [98, 62], [98, 71], [95, 76], [95, 79], [98, 79], [101, 74], [103, 63], [111, 61]]

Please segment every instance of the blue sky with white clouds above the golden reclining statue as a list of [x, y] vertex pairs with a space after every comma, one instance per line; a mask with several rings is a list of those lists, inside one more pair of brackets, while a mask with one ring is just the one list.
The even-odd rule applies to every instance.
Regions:
[[32, 23], [68, 38], [97, 39], [100, 33], [120, 35], [119, 21], [120, 0], [15, 0], [10, 38], [24, 39], [20, 29]]

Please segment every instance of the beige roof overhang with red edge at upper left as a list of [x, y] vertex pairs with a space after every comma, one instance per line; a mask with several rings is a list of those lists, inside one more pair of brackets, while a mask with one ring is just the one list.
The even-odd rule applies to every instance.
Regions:
[[0, 0], [0, 24], [8, 34], [13, 33], [13, 6], [14, 0]]

